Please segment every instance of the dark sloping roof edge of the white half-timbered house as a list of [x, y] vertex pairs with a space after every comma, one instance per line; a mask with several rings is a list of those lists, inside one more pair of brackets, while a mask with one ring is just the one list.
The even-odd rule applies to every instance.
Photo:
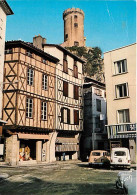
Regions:
[[71, 53], [70, 51], [68, 51], [67, 49], [65, 49], [64, 47], [62, 47], [61, 45], [57, 45], [57, 44], [43, 44], [43, 46], [49, 46], [49, 47], [56, 47], [59, 50], [63, 51], [64, 53], [66, 53], [67, 55], [71, 56], [72, 58], [76, 59], [79, 62], [85, 63], [84, 60], [82, 60], [81, 58], [79, 58], [78, 56], [74, 55], [73, 53]]

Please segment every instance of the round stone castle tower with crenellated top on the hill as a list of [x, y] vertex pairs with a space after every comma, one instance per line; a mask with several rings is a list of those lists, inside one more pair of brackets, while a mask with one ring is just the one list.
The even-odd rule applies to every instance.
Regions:
[[63, 12], [64, 43], [63, 47], [85, 46], [84, 12], [79, 8], [67, 9]]

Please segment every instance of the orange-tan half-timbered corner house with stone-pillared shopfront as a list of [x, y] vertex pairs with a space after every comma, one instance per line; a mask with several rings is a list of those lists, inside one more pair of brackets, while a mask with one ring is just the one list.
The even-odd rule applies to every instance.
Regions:
[[6, 42], [3, 142], [11, 165], [55, 160], [57, 62], [30, 43]]

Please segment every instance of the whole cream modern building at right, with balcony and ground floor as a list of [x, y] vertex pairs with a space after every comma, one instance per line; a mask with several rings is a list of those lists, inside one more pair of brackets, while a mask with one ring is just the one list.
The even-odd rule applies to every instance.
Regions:
[[136, 43], [104, 54], [108, 138], [136, 161]]

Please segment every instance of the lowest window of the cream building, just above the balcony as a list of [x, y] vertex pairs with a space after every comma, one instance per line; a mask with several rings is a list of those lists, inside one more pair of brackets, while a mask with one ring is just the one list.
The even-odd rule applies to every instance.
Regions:
[[129, 109], [118, 110], [118, 123], [129, 123]]

